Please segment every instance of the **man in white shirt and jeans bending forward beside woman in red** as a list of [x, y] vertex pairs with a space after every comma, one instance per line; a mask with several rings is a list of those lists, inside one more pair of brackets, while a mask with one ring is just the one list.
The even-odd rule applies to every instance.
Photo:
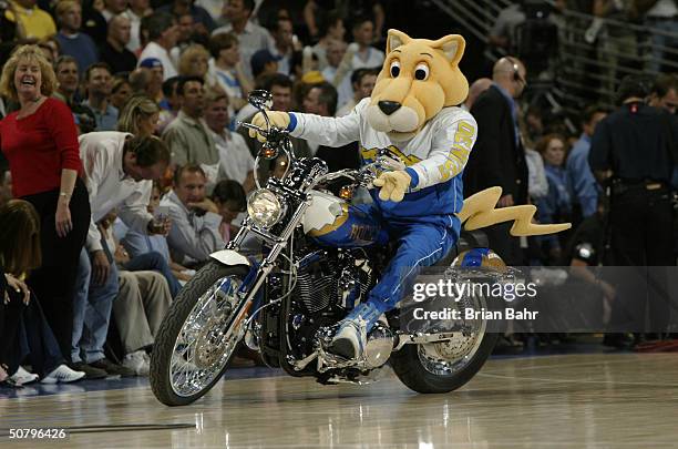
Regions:
[[170, 164], [170, 151], [155, 136], [133, 137], [121, 132], [83, 134], [79, 142], [92, 221], [80, 257], [71, 357], [75, 366], [84, 365], [84, 359], [90, 367], [110, 375], [131, 376], [133, 373], [111, 363], [103, 354], [119, 284], [115, 263], [102, 243], [96, 222], [119, 207], [120, 217], [131, 228], [166, 234], [170, 225], [154, 228], [146, 206], [151, 198], [150, 180], [163, 175]]

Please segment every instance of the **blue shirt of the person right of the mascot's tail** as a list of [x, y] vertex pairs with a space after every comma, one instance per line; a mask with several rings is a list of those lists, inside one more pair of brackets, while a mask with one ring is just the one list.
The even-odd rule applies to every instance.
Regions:
[[582, 206], [584, 218], [596, 213], [599, 187], [588, 165], [590, 137], [582, 134], [567, 156], [566, 172], [572, 200]]

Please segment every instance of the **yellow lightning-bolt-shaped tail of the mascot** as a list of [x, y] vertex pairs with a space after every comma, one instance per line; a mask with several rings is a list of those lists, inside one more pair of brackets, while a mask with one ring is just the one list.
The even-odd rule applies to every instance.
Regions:
[[520, 206], [495, 208], [496, 202], [502, 196], [502, 187], [490, 187], [477, 192], [464, 200], [464, 206], [456, 216], [468, 231], [480, 229], [497, 223], [513, 221], [511, 235], [531, 236], [555, 234], [569, 229], [572, 224], [534, 224], [532, 218], [536, 213], [536, 206], [524, 204]]

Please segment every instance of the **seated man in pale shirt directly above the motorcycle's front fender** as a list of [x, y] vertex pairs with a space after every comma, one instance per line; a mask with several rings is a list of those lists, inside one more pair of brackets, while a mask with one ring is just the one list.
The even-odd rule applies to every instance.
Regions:
[[182, 265], [195, 267], [207, 262], [209, 254], [224, 247], [219, 233], [219, 210], [206, 195], [207, 176], [199, 165], [178, 166], [174, 187], [161, 206], [168, 207], [172, 229], [167, 237], [173, 257]]

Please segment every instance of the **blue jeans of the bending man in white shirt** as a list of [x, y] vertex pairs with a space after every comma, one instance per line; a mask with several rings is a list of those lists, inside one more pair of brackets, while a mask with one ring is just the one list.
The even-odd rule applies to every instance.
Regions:
[[117, 267], [111, 264], [103, 285], [92, 283], [92, 263], [85, 248], [80, 253], [75, 295], [73, 297], [73, 338], [71, 360], [93, 361], [104, 358], [103, 347], [109, 334], [111, 308], [117, 296]]

